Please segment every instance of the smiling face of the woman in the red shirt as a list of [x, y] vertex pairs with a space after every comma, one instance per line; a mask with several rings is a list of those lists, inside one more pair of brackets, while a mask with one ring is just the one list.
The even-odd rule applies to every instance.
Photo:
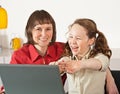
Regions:
[[53, 36], [52, 24], [38, 24], [32, 31], [33, 40], [40, 47], [47, 47]]

